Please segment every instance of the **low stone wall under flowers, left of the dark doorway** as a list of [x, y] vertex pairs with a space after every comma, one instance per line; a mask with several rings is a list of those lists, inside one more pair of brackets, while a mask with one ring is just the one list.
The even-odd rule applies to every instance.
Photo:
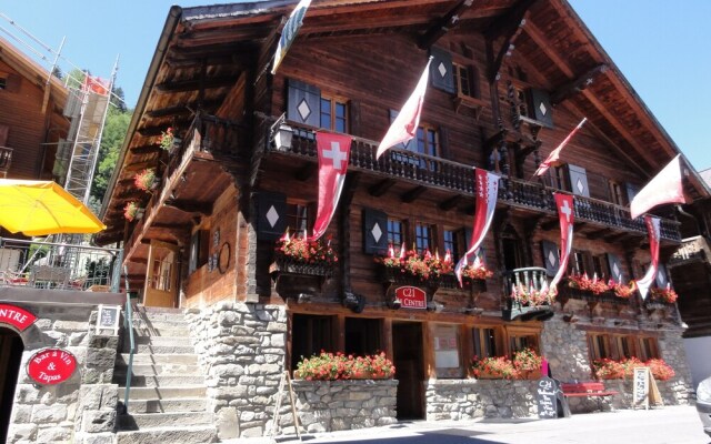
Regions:
[[[293, 381], [301, 427], [309, 433], [394, 424], [398, 381]], [[284, 397], [288, 406], [288, 397]], [[293, 426], [282, 408], [282, 427]]]

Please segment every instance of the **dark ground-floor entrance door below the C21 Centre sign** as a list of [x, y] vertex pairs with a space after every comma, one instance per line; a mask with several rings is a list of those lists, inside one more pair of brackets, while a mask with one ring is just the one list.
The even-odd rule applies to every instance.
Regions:
[[392, 352], [398, 380], [398, 420], [424, 417], [422, 324], [392, 323]]

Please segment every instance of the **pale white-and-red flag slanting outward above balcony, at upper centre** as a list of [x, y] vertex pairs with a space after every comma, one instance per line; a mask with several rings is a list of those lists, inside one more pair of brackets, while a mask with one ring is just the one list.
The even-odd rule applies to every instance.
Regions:
[[420, 124], [420, 114], [422, 114], [422, 103], [424, 102], [424, 91], [427, 91], [427, 82], [430, 75], [430, 63], [432, 58], [428, 60], [424, 71], [420, 77], [418, 85], [414, 87], [414, 91], [410, 95], [404, 105], [400, 110], [400, 113], [388, 129], [385, 137], [382, 138], [380, 145], [378, 145], [378, 152], [375, 159], [380, 159], [391, 147], [398, 143], [403, 143], [414, 138], [418, 132], [418, 125]]

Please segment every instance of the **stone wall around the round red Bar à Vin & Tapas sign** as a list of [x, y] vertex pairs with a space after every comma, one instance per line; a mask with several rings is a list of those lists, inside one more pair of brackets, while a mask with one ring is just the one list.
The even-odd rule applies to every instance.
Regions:
[[[111, 442], [118, 386], [111, 384], [118, 336], [97, 335], [96, 305], [10, 302], [34, 315], [21, 333], [24, 345], [8, 443]], [[77, 357], [72, 377], [38, 386], [27, 374], [29, 359], [41, 349], [60, 347]]]

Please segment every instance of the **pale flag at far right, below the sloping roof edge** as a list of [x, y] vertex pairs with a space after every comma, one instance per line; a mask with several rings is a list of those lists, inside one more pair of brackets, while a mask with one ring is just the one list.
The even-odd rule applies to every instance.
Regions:
[[630, 214], [637, 219], [640, 214], [662, 203], [685, 203], [681, 185], [681, 161], [677, 154], [630, 203]]

